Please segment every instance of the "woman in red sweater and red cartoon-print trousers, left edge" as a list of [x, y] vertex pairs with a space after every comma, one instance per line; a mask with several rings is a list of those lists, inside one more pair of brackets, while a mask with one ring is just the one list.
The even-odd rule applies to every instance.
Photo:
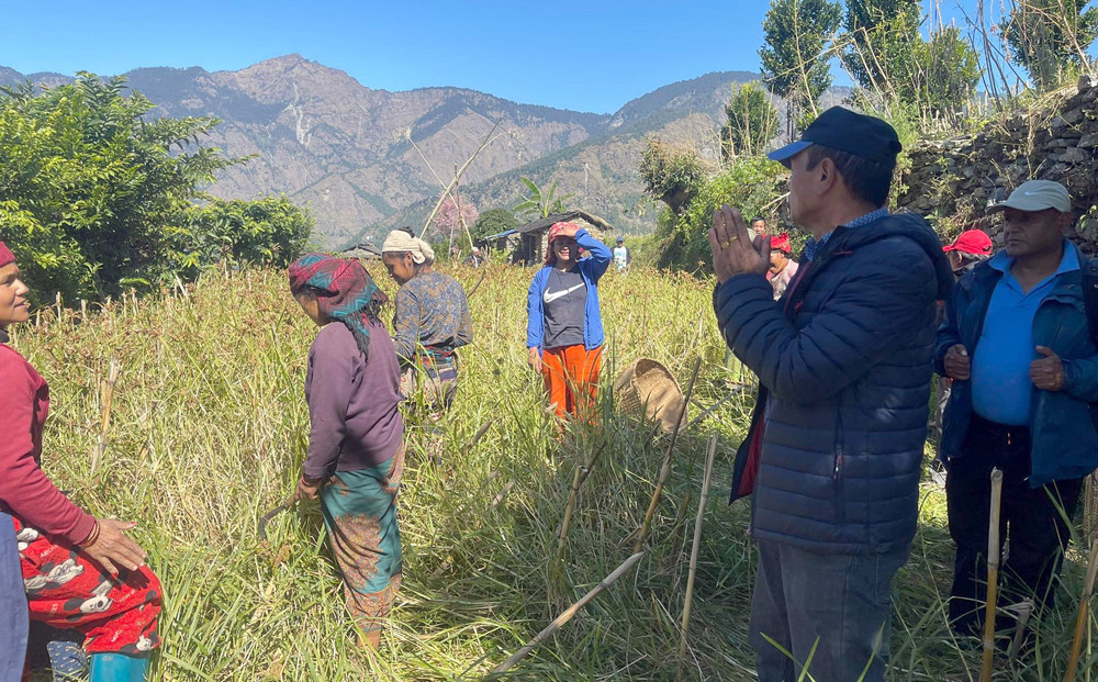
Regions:
[[7, 334], [30, 317], [26, 294], [0, 242], [0, 518], [13, 519], [30, 617], [83, 636], [91, 682], [144, 680], [160, 644], [160, 582], [125, 535], [135, 524], [91, 516], [42, 471], [49, 388]]

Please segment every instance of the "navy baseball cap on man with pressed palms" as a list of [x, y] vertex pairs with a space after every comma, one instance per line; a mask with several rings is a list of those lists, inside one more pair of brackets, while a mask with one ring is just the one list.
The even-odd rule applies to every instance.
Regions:
[[788, 167], [789, 159], [814, 144], [882, 164], [894, 163], [896, 155], [904, 148], [895, 128], [885, 121], [842, 107], [832, 107], [800, 133], [800, 139], [766, 156]]

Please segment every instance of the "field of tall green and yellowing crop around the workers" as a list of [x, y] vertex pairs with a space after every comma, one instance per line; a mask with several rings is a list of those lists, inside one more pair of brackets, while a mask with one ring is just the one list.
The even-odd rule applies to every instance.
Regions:
[[[383, 270], [370, 269], [381, 281]], [[15, 347], [51, 382], [46, 470], [94, 514], [137, 521], [135, 535], [164, 581], [165, 647], [154, 680], [479, 680], [632, 554], [668, 437], [649, 441], [649, 427], [618, 415], [604, 390], [601, 425], [557, 444], [540, 379], [525, 365], [533, 271], [453, 272], [467, 291], [486, 272], [470, 300], [475, 340], [461, 354], [444, 467], [425, 461], [424, 434], [410, 424], [404, 583], [377, 655], [356, 644], [315, 503], [276, 517], [267, 541], [257, 536], [258, 518], [291, 492], [307, 437], [302, 387], [316, 329], [282, 272], [214, 273], [186, 295], [115, 302], [86, 322], [47, 310], [41, 325], [13, 329]], [[384, 286], [392, 292], [388, 279]], [[741, 379], [726, 362], [709, 282], [638, 270], [610, 273], [600, 289], [604, 387], [638, 357], [660, 360], [681, 384], [699, 358], [702, 405]], [[111, 358], [122, 373], [110, 446], [92, 471]], [[720, 440], [683, 677], [754, 679], [749, 510], [727, 504], [731, 455], [750, 406], [750, 396], [729, 401], [680, 436], [645, 557], [509, 679], [675, 678], [712, 433]], [[575, 467], [603, 441], [558, 563], [557, 529]], [[896, 581], [890, 675], [973, 680], [978, 652], [962, 651], [945, 627], [953, 547], [944, 495], [929, 477], [923, 492], [911, 559]], [[1064, 581], [1062, 607], [1039, 625], [1033, 653], [1000, 667], [997, 680], [1063, 678], [1082, 589], [1074, 554]], [[1080, 679], [1089, 679], [1089, 641], [1084, 657]]]

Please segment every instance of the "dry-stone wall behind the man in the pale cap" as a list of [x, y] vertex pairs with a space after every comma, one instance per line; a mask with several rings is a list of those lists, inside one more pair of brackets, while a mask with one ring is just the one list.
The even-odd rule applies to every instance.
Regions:
[[1067, 236], [1098, 251], [1098, 83], [1089, 77], [975, 136], [921, 142], [910, 150], [898, 208], [922, 214], [943, 237], [983, 228], [1001, 246], [1000, 219], [985, 216], [1026, 180], [1067, 187], [1078, 219]]

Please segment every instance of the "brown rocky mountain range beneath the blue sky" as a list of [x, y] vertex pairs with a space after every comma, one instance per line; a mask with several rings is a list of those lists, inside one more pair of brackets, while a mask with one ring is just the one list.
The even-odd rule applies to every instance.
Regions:
[[[522, 104], [439, 87], [390, 92], [300, 55], [237, 71], [138, 68], [128, 86], [154, 115], [213, 116], [203, 145], [250, 157], [221, 171], [210, 193], [250, 199], [283, 192], [307, 204], [317, 241], [329, 248], [378, 242], [388, 230], [421, 227], [449, 182], [486, 139], [461, 178], [463, 202], [481, 212], [511, 208], [519, 178], [556, 181], [569, 208], [605, 217], [625, 233], [650, 232], [656, 206], [638, 165], [645, 136], [695, 145], [716, 156], [716, 130], [736, 83], [755, 74], [721, 71], [659, 88], [613, 114]], [[70, 77], [0, 67], [0, 85], [56, 86]]]

